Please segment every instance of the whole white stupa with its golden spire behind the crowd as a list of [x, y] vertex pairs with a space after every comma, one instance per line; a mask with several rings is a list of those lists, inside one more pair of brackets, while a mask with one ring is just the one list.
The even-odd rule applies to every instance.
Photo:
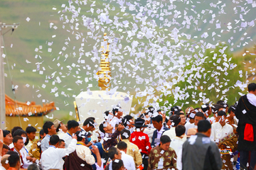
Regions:
[[[104, 34], [104, 37], [107, 34]], [[107, 41], [104, 38], [105, 41]], [[121, 106], [124, 114], [128, 115], [131, 106], [132, 98], [124, 92], [110, 90], [110, 62], [108, 59], [109, 55], [109, 43], [107, 47], [102, 47], [102, 57], [100, 60], [100, 69], [97, 73], [99, 75], [99, 87], [100, 91], [82, 91], [78, 96], [75, 97], [75, 107], [77, 116], [79, 117], [80, 123], [88, 117], [94, 117], [99, 124], [104, 120], [103, 113], [105, 111], [111, 111], [115, 106]], [[107, 48], [107, 50], [105, 50]]]

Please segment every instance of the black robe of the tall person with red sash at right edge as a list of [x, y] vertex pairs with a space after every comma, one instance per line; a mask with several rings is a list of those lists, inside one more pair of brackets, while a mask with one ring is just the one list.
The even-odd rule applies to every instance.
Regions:
[[[246, 113], [245, 113], [246, 111]], [[242, 113], [244, 112], [244, 113]], [[235, 117], [238, 118], [238, 150], [256, 150], [256, 107], [247, 99], [247, 95], [239, 98], [238, 106], [235, 109]], [[254, 141], [244, 140], [245, 125], [251, 124], [254, 134]]]

